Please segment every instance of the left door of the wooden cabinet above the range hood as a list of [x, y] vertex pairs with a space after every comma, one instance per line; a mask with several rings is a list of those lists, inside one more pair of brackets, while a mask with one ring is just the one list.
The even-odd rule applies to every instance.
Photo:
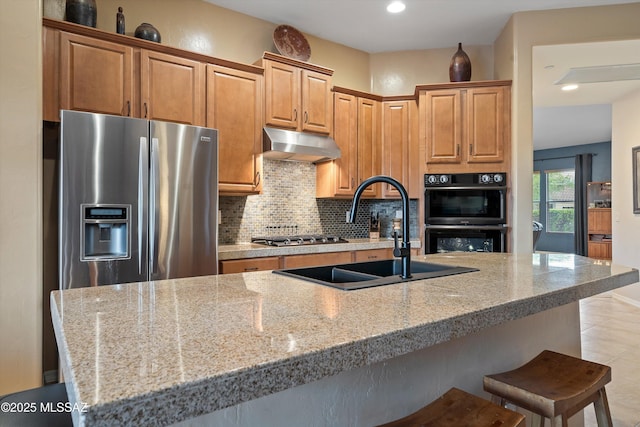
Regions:
[[300, 70], [287, 64], [264, 61], [265, 122], [297, 129], [300, 104]]

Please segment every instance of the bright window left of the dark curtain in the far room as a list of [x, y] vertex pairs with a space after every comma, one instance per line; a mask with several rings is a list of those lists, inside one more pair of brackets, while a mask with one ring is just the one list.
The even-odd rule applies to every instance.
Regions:
[[548, 233], [574, 232], [575, 172], [573, 169], [546, 171]]

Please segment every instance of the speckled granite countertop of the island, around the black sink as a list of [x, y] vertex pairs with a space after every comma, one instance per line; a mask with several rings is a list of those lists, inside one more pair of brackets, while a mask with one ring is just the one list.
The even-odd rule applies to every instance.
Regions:
[[76, 425], [167, 425], [638, 281], [568, 254], [414, 257], [480, 271], [341, 291], [269, 271], [51, 295]]

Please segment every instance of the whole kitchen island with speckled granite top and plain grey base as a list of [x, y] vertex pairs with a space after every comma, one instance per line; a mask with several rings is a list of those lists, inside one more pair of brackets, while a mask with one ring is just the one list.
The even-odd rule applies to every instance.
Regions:
[[638, 271], [567, 254], [414, 259], [479, 271], [341, 291], [269, 271], [52, 293], [76, 425], [349, 425], [406, 415], [548, 348]]

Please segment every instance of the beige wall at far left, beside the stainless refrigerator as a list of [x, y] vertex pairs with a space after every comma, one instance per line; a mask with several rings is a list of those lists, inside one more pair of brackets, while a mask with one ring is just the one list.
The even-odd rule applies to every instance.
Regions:
[[41, 10], [0, 2], [0, 395], [41, 381]]

